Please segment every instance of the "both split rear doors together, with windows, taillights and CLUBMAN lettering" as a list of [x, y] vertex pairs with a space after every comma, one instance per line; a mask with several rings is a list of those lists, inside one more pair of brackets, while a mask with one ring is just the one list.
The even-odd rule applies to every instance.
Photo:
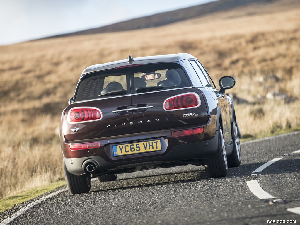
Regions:
[[65, 109], [64, 135], [87, 140], [207, 121], [203, 96], [179, 64], [148, 64], [83, 76]]

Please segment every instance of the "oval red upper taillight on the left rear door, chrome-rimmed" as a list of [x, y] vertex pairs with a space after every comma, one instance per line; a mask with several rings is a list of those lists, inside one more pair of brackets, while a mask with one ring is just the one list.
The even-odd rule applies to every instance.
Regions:
[[98, 108], [95, 107], [75, 107], [72, 108], [68, 113], [69, 123], [83, 123], [101, 119], [102, 113]]

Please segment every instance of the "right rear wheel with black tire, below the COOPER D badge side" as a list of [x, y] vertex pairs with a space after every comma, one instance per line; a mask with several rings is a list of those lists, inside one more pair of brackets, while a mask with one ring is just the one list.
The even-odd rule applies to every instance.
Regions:
[[217, 153], [204, 161], [205, 172], [209, 178], [224, 177], [228, 173], [228, 164], [225, 150], [223, 131], [219, 124]]

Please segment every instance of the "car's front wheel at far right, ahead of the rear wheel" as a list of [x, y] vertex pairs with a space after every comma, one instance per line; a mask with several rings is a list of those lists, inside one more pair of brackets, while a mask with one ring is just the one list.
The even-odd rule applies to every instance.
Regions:
[[232, 124], [232, 137], [233, 137], [233, 149], [231, 155], [228, 158], [229, 167], [238, 167], [241, 164], [241, 145], [238, 136], [238, 126], [235, 119]]

